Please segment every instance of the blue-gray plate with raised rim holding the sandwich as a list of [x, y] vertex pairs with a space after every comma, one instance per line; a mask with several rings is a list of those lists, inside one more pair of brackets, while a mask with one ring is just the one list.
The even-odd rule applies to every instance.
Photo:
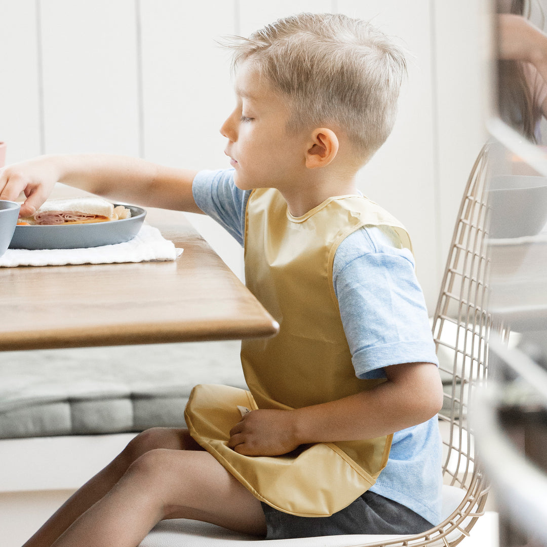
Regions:
[[[120, 205], [116, 203], [115, 205]], [[146, 211], [133, 205], [131, 218], [90, 224], [54, 224], [51, 226], [15, 226], [10, 249], [79, 249], [123, 243], [141, 229]]]

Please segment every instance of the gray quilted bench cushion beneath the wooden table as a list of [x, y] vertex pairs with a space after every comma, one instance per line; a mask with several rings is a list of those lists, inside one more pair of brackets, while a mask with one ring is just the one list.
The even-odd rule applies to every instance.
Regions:
[[0, 438], [183, 427], [196, 383], [245, 387], [239, 342], [0, 352]]

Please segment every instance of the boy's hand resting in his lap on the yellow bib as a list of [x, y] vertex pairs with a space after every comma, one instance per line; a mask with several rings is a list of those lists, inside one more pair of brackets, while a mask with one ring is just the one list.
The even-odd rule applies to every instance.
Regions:
[[280, 456], [300, 443], [290, 410], [253, 410], [230, 430], [228, 446], [245, 456]]

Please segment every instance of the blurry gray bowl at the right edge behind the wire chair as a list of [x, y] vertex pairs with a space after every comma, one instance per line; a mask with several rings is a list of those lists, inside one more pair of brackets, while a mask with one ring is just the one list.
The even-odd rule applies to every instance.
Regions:
[[547, 223], [547, 178], [497, 175], [488, 190], [490, 237], [539, 234]]

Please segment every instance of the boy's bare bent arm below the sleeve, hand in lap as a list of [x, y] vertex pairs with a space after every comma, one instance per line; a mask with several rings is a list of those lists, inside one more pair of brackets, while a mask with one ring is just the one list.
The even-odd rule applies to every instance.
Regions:
[[387, 381], [343, 399], [296, 410], [253, 410], [231, 430], [229, 446], [275, 456], [307, 443], [370, 439], [425, 422], [443, 405], [433, 363], [387, 366]]

